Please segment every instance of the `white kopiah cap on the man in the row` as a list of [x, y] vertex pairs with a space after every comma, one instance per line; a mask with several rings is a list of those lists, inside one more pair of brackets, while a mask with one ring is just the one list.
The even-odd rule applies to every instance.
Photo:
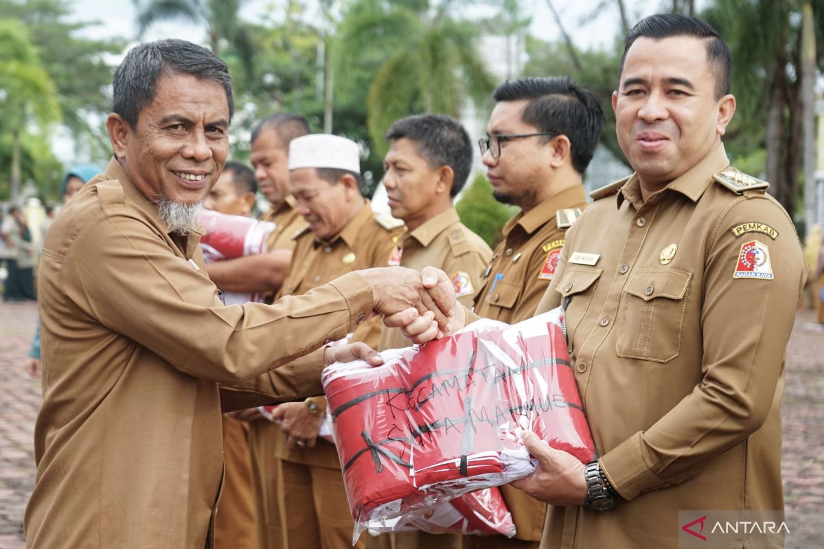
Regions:
[[335, 168], [360, 173], [360, 147], [346, 137], [314, 133], [289, 143], [289, 170]]

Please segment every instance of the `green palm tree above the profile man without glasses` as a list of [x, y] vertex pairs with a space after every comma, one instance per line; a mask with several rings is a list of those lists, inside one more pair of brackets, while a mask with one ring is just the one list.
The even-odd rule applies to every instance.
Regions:
[[486, 105], [494, 88], [477, 30], [452, 12], [459, 0], [356, 0], [335, 44], [339, 81], [372, 67], [368, 131], [380, 147], [396, 119], [415, 112], [456, 116], [469, 98]]

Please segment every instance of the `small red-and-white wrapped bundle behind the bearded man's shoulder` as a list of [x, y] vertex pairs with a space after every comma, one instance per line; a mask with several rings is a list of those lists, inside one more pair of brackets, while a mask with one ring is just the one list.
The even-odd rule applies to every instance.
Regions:
[[[274, 223], [258, 221], [251, 217], [230, 216], [225, 213], [204, 210], [198, 218], [206, 232], [200, 237], [206, 263], [245, 255], [265, 254], [266, 240], [274, 230]], [[265, 294], [241, 294], [223, 292], [226, 305], [242, 305], [249, 301], [262, 302]]]

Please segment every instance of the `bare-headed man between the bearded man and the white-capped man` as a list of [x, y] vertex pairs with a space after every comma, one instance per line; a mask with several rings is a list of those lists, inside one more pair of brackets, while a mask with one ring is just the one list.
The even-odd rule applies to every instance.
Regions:
[[[309, 133], [306, 119], [300, 114], [274, 114], [261, 120], [251, 134], [250, 161], [260, 192], [271, 208], [260, 219], [275, 224], [266, 243], [268, 254], [235, 258], [208, 265], [209, 277], [224, 291], [267, 292], [271, 300], [289, 271], [293, 249], [291, 235], [303, 225], [289, 195], [288, 150], [295, 137]], [[238, 417], [254, 419], [254, 413], [240, 412]]]

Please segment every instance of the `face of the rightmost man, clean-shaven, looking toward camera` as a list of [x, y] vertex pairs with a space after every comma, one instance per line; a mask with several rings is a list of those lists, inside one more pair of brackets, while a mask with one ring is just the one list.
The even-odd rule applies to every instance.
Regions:
[[630, 46], [612, 108], [620, 148], [644, 188], [661, 188], [719, 144], [735, 98], [715, 93], [704, 39], [641, 37]]

